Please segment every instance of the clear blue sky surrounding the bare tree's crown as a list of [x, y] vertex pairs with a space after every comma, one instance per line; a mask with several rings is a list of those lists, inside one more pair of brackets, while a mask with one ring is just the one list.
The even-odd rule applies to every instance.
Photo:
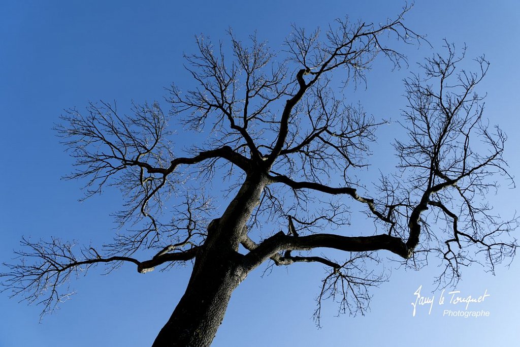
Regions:
[[[384, 22], [398, 14], [399, 1], [3, 1], [0, 4], [0, 260], [8, 261], [22, 235], [34, 239], [58, 236], [80, 243], [111, 239], [110, 213], [120, 205], [118, 192], [77, 202], [81, 182], [61, 181], [71, 169], [51, 128], [64, 108], [84, 107], [89, 100], [116, 100], [127, 108], [131, 100], [159, 100], [164, 87], [182, 86], [183, 53], [194, 52], [193, 37], [204, 33], [225, 41], [229, 27], [239, 35], [257, 31], [280, 49], [290, 24], [325, 27], [349, 15]], [[520, 3], [510, 1], [419, 0], [406, 16], [407, 25], [427, 34], [426, 45], [405, 47], [410, 67], [389, 71], [376, 65], [368, 87], [349, 95], [360, 100], [376, 118], [399, 119], [404, 108], [401, 80], [417, 71], [416, 61], [440, 50], [442, 39], [469, 47], [468, 56], [486, 54], [491, 61], [480, 86], [488, 92], [486, 115], [509, 135], [506, 158], [511, 173], [520, 175], [517, 150], [518, 91], [520, 91]], [[379, 133], [381, 150], [371, 163], [392, 170], [386, 156], [391, 131]], [[182, 136], [182, 135], [179, 135]], [[188, 140], [183, 139], [183, 140]], [[517, 189], [502, 187], [490, 197], [497, 211], [517, 209]], [[385, 254], [386, 256], [386, 254]], [[388, 254], [388, 258], [392, 258]], [[413, 293], [419, 286], [438, 300], [433, 278], [439, 269], [421, 272], [393, 269], [391, 280], [372, 290], [371, 311], [365, 316], [336, 316], [328, 303], [322, 329], [312, 320], [323, 269], [315, 264], [275, 268], [261, 278], [258, 269], [233, 294], [214, 346], [422, 346], [515, 345], [520, 339], [518, 260], [500, 267], [496, 276], [481, 268], [464, 269], [458, 290], [491, 296], [478, 306], [489, 317], [443, 317], [435, 304], [412, 317]], [[184, 292], [190, 268], [138, 274], [123, 266], [102, 276], [90, 271], [73, 283], [77, 295], [38, 323], [40, 307], [0, 295], [0, 346], [147, 346]], [[489, 299], [489, 300], [488, 300]], [[497, 342], [499, 341], [499, 342]]]

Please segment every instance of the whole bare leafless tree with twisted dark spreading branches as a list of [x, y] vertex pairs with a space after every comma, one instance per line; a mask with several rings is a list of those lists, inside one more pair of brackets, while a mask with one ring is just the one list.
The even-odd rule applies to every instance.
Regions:
[[[426, 60], [424, 77], [406, 81], [402, 125], [409, 137], [395, 143], [400, 172], [382, 177], [371, 194], [359, 193], [355, 173], [367, 165], [382, 122], [348, 105], [333, 86], [333, 73], [345, 69], [347, 80], [358, 83], [378, 55], [396, 67], [405, 62], [383, 43], [388, 35], [422, 40], [403, 24], [405, 12], [379, 27], [337, 21], [324, 38], [294, 28], [279, 62], [281, 55], [254, 36], [246, 47], [229, 33], [232, 61], [225, 47], [215, 52], [199, 38], [199, 53], [187, 57], [197, 86], [185, 93], [172, 86], [169, 101], [174, 121], [192, 131], [211, 127], [211, 133], [185, 156], [174, 154], [157, 103], [134, 105], [131, 116], [103, 102], [86, 113], [70, 110], [58, 126], [77, 159], [70, 178], [87, 178], [87, 196], [120, 187], [126, 201], [117, 217], [132, 230], [102, 250], [79, 252], [57, 239], [23, 239], [20, 262], [8, 265], [5, 284], [47, 311], [68, 295], [60, 285], [89, 266], [131, 262], [146, 273], [193, 260], [186, 293], [154, 345], [204, 346], [233, 289], [266, 261], [322, 263], [330, 272], [319, 300], [340, 295], [344, 310], [358, 311], [368, 304], [368, 287], [384, 279], [367, 264], [379, 261], [378, 251], [411, 266], [440, 254], [446, 264], [441, 284], [457, 280], [461, 265], [481, 262], [492, 269], [512, 256], [517, 245], [507, 234], [516, 219], [502, 222], [480, 204], [491, 179], [508, 175], [505, 135], [487, 126], [482, 97], [473, 94], [487, 71], [484, 58], [477, 59], [477, 73], [458, 70], [463, 54], [447, 45], [446, 56]], [[218, 216], [202, 187], [220, 175], [234, 184]], [[161, 217], [168, 199], [178, 203], [176, 212]], [[353, 203], [365, 208], [375, 230], [348, 226]], [[347, 259], [317, 256], [316, 248], [345, 251]]]

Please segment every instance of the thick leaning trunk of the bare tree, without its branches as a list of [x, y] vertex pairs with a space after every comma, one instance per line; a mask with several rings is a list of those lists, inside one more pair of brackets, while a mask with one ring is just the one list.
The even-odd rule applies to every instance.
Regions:
[[207, 238], [197, 254], [186, 292], [152, 347], [211, 344], [231, 293], [247, 275], [238, 246], [266, 182], [263, 174], [248, 176], [223, 215], [207, 227]]

